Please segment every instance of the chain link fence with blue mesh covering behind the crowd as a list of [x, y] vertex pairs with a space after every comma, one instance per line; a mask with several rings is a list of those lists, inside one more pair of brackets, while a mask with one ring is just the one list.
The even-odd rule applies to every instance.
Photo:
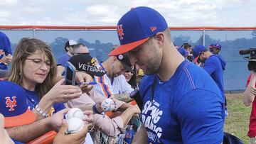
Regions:
[[[256, 47], [256, 28], [241, 30], [188, 30], [188, 28], [171, 29], [171, 37], [176, 45], [190, 43], [193, 45], [210, 45], [219, 43], [222, 45], [220, 55], [227, 62], [224, 72], [224, 89], [227, 92], [241, 91], [245, 89], [245, 81], [250, 74], [247, 70], [247, 61], [239, 55], [240, 49]], [[119, 44], [115, 29], [4, 29], [11, 41], [14, 52], [21, 38], [38, 38], [50, 45], [58, 60], [65, 53], [65, 42], [73, 39], [87, 45], [92, 57], [99, 61], [107, 60], [107, 54], [114, 45]]]

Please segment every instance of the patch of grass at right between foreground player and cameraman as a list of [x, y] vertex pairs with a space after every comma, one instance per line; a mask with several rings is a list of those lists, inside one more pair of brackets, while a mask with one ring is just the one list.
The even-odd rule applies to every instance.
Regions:
[[242, 94], [226, 94], [228, 101], [228, 118], [225, 120], [224, 131], [249, 143], [247, 137], [251, 106], [242, 104]]

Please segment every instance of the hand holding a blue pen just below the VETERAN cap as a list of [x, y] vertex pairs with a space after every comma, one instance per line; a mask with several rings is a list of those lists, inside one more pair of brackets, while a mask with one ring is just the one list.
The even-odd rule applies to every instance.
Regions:
[[[86, 74], [85, 72], [77, 72], [75, 74], [75, 80], [78, 82], [78, 84], [82, 82], [92, 82], [93, 79], [89, 74]], [[80, 85], [80, 89], [82, 89], [82, 93], [90, 92], [92, 90], [93, 86], [88, 84], [82, 84]]]

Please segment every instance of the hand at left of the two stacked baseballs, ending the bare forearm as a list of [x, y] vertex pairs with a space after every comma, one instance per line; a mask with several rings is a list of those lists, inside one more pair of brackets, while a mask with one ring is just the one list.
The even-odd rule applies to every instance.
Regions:
[[63, 109], [61, 111], [58, 111], [58, 113], [53, 114], [50, 119], [50, 128], [53, 129], [53, 131], [59, 131], [64, 119], [64, 115], [68, 113], [68, 110], [70, 109]]

